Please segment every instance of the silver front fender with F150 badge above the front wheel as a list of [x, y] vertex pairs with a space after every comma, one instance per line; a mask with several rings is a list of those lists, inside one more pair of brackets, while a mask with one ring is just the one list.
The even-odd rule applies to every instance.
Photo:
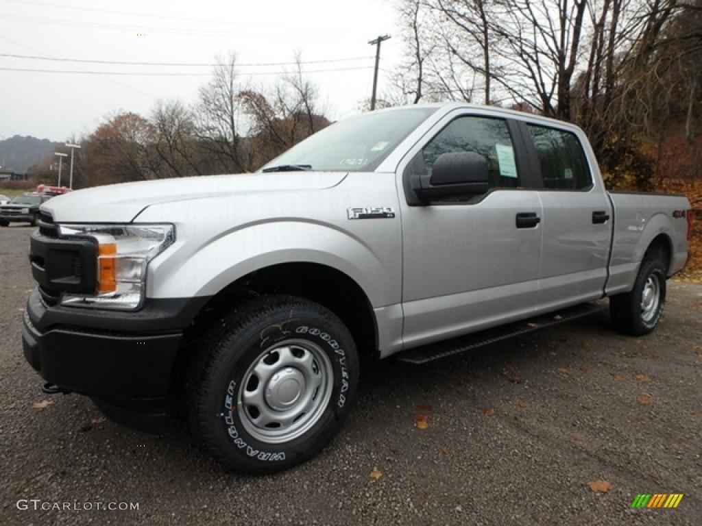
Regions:
[[[375, 179], [378, 189], [373, 204], [397, 207], [392, 176], [383, 178], [386, 184], [378, 184], [375, 174], [368, 177]], [[400, 219], [350, 220], [348, 208], [365, 204], [354, 198], [355, 187], [368, 184], [364, 175], [353, 179], [340, 185], [344, 188], [274, 194], [265, 206], [260, 199], [239, 196], [220, 203], [210, 198], [148, 208], [138, 221], [173, 217], [176, 243], [150, 263], [147, 297], [212, 296], [258, 269], [310, 262], [349, 276], [364, 290], [373, 308], [399, 304]], [[310, 203], [314, 203], [313, 215]], [[192, 217], [199, 220], [192, 221]]]

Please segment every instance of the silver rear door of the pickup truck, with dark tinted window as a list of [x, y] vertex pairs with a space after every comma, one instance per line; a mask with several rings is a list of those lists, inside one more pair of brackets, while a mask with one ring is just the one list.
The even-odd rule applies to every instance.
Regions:
[[[596, 299], [607, 281], [611, 205], [574, 130], [521, 123], [543, 184], [541, 310]], [[594, 159], [593, 159], [594, 161]]]

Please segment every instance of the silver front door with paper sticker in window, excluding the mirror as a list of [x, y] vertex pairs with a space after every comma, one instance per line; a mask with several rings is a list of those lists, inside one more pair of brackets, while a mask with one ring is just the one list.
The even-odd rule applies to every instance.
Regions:
[[[515, 134], [517, 140], [515, 140]], [[413, 178], [429, 180], [441, 154], [484, 157], [489, 191], [411, 204]], [[453, 112], [409, 152], [403, 174], [403, 309], [406, 347], [521, 318], [534, 309], [541, 203], [524, 189], [516, 123]]]

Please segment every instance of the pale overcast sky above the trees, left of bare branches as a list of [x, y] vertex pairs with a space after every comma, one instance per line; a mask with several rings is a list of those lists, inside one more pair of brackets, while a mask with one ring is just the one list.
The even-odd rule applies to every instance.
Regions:
[[[148, 116], [159, 99], [192, 103], [230, 50], [254, 86], [293, 71], [299, 50], [327, 116], [340, 119], [370, 97], [368, 42], [397, 34], [396, 20], [392, 0], [0, 0], [0, 140], [64, 141], [119, 110]], [[381, 51], [379, 93], [399, 35]]]

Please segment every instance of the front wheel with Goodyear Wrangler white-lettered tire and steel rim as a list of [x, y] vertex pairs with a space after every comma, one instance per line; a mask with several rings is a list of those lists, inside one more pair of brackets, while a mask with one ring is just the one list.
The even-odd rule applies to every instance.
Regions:
[[190, 424], [235, 471], [282, 471], [331, 442], [358, 377], [354, 340], [333, 313], [306, 299], [261, 297], [204, 340], [190, 367]]

